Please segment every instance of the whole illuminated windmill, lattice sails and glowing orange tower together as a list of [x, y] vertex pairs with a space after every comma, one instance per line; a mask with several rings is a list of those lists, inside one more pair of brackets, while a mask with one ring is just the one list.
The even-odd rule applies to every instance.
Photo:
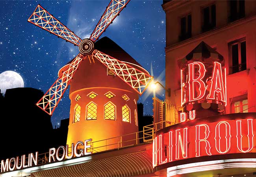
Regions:
[[[28, 19], [28, 22], [79, 47], [80, 53], [59, 70], [58, 79], [45, 93], [43, 98], [37, 102], [38, 107], [52, 115], [65, 90], [70, 85], [69, 97], [71, 105], [68, 144], [74, 142], [75, 139], [84, 140], [86, 138], [84, 134], [88, 136], [88, 132], [93, 132], [93, 130], [85, 132], [85, 127], [89, 128], [103, 124], [105, 127], [112, 126], [113, 129], [113, 126], [120, 126], [120, 124], [113, 125], [113, 123], [106, 126], [106, 122], [103, 123], [100, 120], [117, 120], [118, 117], [121, 117], [122, 122], [131, 123], [131, 115], [133, 115], [135, 117], [135, 120], [133, 119], [135, 121], [134, 124], [137, 126], [137, 107], [135, 105], [138, 100], [138, 94], [141, 95], [144, 92], [152, 80], [152, 76], [134, 59], [127, 57], [127, 53], [125, 54], [125, 52], [123, 52], [124, 55], [116, 55], [113, 52], [115, 56], [120, 57], [119, 59], [121, 60], [118, 60], [106, 54], [108, 52], [103, 53], [100, 50], [96, 50], [103, 49], [102, 51], [104, 51], [102, 44], [106, 45], [106, 47], [117, 45], [110, 39], [104, 37], [95, 42], [129, 1], [111, 0], [91, 34], [90, 39], [80, 39], [40, 5], [35, 8], [35, 11]], [[101, 42], [102, 44], [100, 44], [100, 41], [103, 41]], [[99, 47], [97, 48], [95, 46], [97, 46], [98, 42]], [[126, 59], [122, 59], [122, 57]], [[74, 76], [78, 67], [80, 67], [80, 70]], [[97, 99], [98, 101], [96, 101]], [[108, 102], [106, 102], [106, 99]], [[126, 101], [126, 103], [123, 104], [122, 101]], [[133, 104], [133, 110], [129, 106], [131, 104]], [[90, 120], [91, 122], [97, 120], [98, 124], [89, 125], [91, 122], [86, 120]], [[124, 127], [126, 125], [122, 126]], [[128, 130], [128, 132], [136, 130], [136, 126]], [[80, 133], [83, 136], [78, 136], [79, 132], [77, 131], [81, 129], [83, 129], [83, 132]], [[72, 132], [72, 135], [70, 135], [70, 132]], [[125, 132], [127, 131], [119, 129], [118, 132], [115, 132], [115, 136], [122, 135]], [[89, 138], [91, 137], [93, 136], [89, 136]], [[101, 136], [101, 139], [104, 137]]]

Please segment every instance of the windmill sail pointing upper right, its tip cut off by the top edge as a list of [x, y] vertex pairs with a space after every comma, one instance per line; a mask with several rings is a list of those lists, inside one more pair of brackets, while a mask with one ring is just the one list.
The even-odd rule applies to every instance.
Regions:
[[90, 39], [96, 41], [100, 35], [108, 28], [113, 20], [119, 15], [122, 9], [130, 2], [130, 0], [111, 0], [102, 17], [100, 18], [96, 28], [91, 34]]

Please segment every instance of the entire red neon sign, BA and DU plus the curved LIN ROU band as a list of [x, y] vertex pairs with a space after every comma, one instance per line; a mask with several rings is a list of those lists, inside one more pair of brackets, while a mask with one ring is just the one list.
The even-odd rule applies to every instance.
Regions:
[[[226, 105], [226, 70], [219, 62], [209, 66], [195, 61], [181, 70], [182, 106]], [[253, 113], [241, 113], [196, 119], [196, 110], [181, 113], [180, 124], [156, 132], [153, 167], [197, 157], [240, 153], [242, 157], [245, 153], [256, 153], [254, 117]]]

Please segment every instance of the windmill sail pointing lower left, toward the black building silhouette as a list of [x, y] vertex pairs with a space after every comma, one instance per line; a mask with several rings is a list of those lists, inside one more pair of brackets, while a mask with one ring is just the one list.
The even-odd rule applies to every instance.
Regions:
[[78, 54], [76, 58], [70, 63], [67, 69], [61, 76], [54, 82], [52, 87], [45, 93], [45, 95], [37, 102], [37, 106], [43, 109], [46, 113], [52, 115], [56, 109], [59, 101], [61, 100], [64, 92], [66, 91], [69, 83], [74, 76], [78, 66], [82, 62], [84, 56]]

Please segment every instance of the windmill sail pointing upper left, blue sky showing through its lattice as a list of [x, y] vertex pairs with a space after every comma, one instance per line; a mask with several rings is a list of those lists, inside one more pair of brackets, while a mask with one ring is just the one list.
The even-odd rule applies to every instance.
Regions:
[[28, 22], [46, 30], [50, 33], [65, 39], [72, 44], [79, 46], [82, 41], [77, 35], [64, 26], [59, 20], [53, 17], [48, 11], [46, 11], [40, 4], [35, 8]]

